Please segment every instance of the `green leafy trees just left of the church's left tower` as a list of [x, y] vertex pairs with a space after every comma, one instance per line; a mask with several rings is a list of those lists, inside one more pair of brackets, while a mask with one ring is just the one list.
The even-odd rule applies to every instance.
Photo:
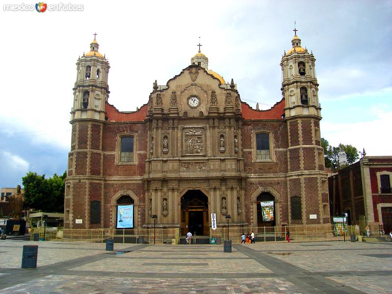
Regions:
[[22, 178], [25, 187], [25, 207], [46, 212], [64, 211], [64, 189], [67, 172], [46, 179], [45, 174], [28, 172]]

